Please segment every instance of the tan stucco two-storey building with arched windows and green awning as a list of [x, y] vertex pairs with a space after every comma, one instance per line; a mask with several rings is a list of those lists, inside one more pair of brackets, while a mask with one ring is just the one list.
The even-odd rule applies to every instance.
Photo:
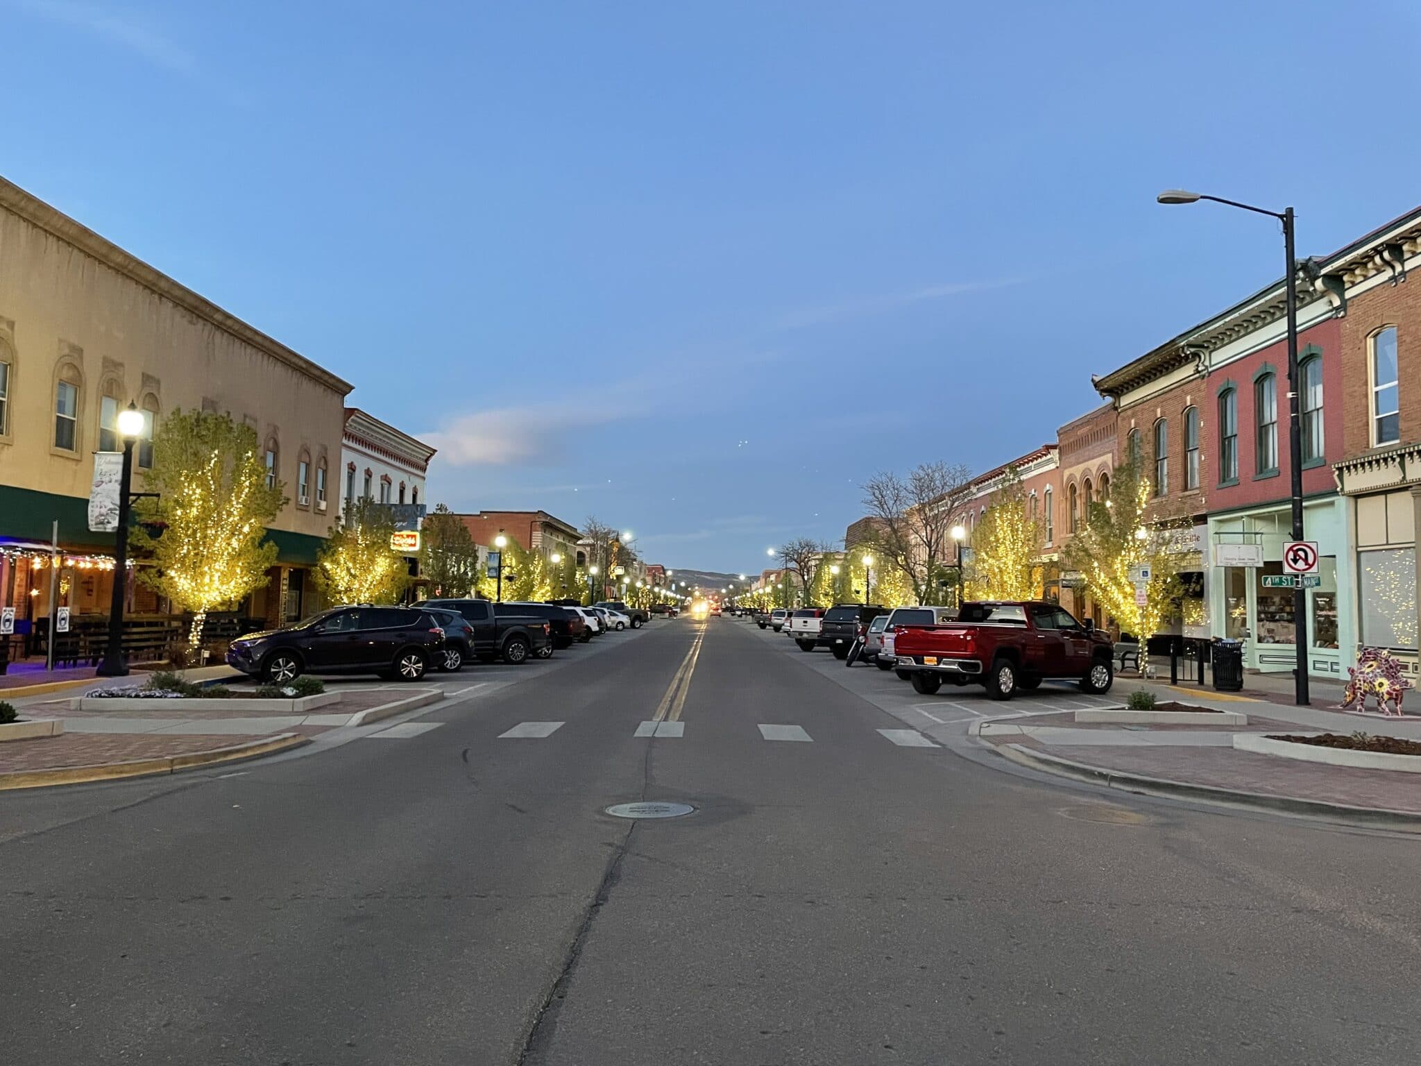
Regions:
[[[60, 546], [90, 563], [70, 605], [107, 610], [114, 534], [90, 533], [87, 500], [92, 453], [117, 448], [114, 416], [129, 402], [151, 425], [203, 408], [256, 429], [290, 502], [270, 530], [283, 566], [247, 611], [276, 620], [308, 605], [303, 571], [338, 509], [351, 385], [3, 179], [0, 262], [0, 605], [44, 613], [47, 583], [30, 596], [26, 571], [38, 564], [26, 553], [58, 520]], [[135, 490], [146, 465], [139, 442]], [[158, 607], [145, 591], [131, 604]]]

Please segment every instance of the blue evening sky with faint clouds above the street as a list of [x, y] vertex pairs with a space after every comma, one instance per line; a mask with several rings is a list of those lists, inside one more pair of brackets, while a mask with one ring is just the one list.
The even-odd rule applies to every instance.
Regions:
[[355, 382], [431, 499], [750, 570], [1421, 202], [1400, 0], [0, 0], [3, 173]]

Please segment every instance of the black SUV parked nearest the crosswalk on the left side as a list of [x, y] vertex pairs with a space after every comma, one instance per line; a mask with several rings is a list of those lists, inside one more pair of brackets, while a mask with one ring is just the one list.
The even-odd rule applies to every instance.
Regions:
[[283, 685], [301, 674], [379, 674], [419, 681], [443, 661], [445, 634], [412, 607], [335, 607], [297, 625], [232, 641], [227, 664]]

